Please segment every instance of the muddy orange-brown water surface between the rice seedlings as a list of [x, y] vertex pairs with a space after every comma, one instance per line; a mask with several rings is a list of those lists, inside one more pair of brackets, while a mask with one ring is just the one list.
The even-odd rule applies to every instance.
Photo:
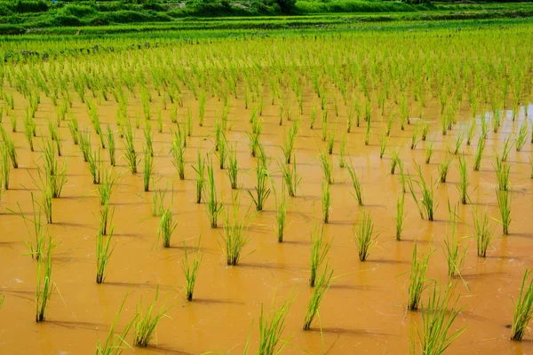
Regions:
[[[8, 92], [11, 89], [6, 88]], [[156, 97], [156, 94], [154, 93]], [[196, 151], [210, 153], [213, 148], [213, 122], [220, 112], [221, 105], [210, 98], [207, 102], [204, 127], [195, 125], [193, 137], [187, 148], [186, 179], [179, 180], [171, 163], [171, 129], [169, 110], [163, 111], [163, 133], [156, 131], [153, 122], [153, 138], [156, 152], [156, 188], [163, 188], [171, 179], [173, 187], [174, 217], [178, 228], [172, 235], [171, 248], [154, 245], [158, 217], [151, 217], [150, 199], [152, 192], [142, 192], [142, 164], [136, 176], [126, 169], [123, 158], [119, 159], [116, 171], [123, 178], [111, 201], [115, 207], [114, 254], [107, 266], [105, 283], [95, 282], [95, 235], [98, 230], [99, 204], [95, 185], [77, 146], [72, 144], [67, 122], [61, 122], [60, 133], [63, 144], [63, 157], [68, 163], [68, 183], [60, 199], [53, 201], [54, 223], [49, 231], [60, 246], [53, 252], [52, 280], [60, 292], [52, 296], [44, 323], [36, 324], [35, 289], [36, 261], [28, 253], [25, 242], [28, 240], [28, 227], [23, 219], [10, 209], [20, 209], [31, 213], [30, 192], [38, 194], [32, 177], [36, 177], [36, 164], [39, 164], [40, 149], [31, 153], [22, 132], [12, 133], [20, 168], [12, 170], [10, 190], [4, 193], [1, 201], [0, 225], [0, 294], [4, 294], [4, 306], [0, 310], [0, 352], [1, 353], [50, 353], [50, 354], [89, 354], [94, 353], [98, 339], [104, 341], [115, 314], [128, 294], [123, 313], [118, 320], [117, 330], [122, 331], [131, 319], [135, 306], [142, 297], [143, 302], [151, 302], [155, 289], [159, 286], [162, 296], [159, 304], [173, 305], [157, 327], [156, 340], [146, 350], [136, 349], [137, 353], [203, 353], [220, 351], [242, 353], [249, 335], [251, 323], [251, 351], [256, 351], [259, 341], [260, 304], [279, 304], [283, 299], [293, 297], [285, 337], [290, 337], [290, 345], [285, 353], [370, 353], [405, 354], [409, 351], [410, 332], [421, 325], [420, 311], [406, 312], [407, 284], [412, 250], [415, 244], [421, 252], [434, 249], [431, 256], [428, 277], [445, 282], [447, 264], [443, 252], [443, 241], [448, 228], [447, 196], [453, 203], [458, 200], [455, 184], [458, 181], [457, 157], [452, 163], [448, 181], [438, 184], [435, 198], [438, 201], [435, 221], [428, 222], [418, 216], [418, 211], [409, 194], [405, 199], [406, 222], [402, 241], [394, 239], [395, 203], [401, 185], [397, 176], [390, 175], [390, 155], [379, 159], [378, 135], [385, 128], [386, 117], [378, 107], [372, 111], [372, 134], [370, 146], [364, 146], [364, 125], [347, 134], [347, 154], [351, 157], [357, 173], [362, 178], [364, 209], [370, 211], [379, 232], [377, 245], [370, 250], [369, 259], [358, 259], [354, 243], [353, 226], [358, 221], [361, 208], [350, 194], [352, 190], [346, 169], [338, 167], [338, 139], [345, 127], [346, 111], [341, 109], [340, 117], [330, 110], [330, 127], [336, 127], [337, 139], [334, 154], [335, 184], [331, 185], [330, 224], [326, 225], [328, 240], [332, 240], [330, 266], [335, 275], [333, 285], [324, 296], [320, 309], [320, 320], [314, 319], [311, 331], [303, 331], [302, 325], [306, 304], [311, 295], [308, 287], [310, 232], [315, 222], [322, 218], [321, 182], [322, 170], [316, 159], [324, 143], [321, 137], [321, 111], [317, 115], [314, 130], [309, 128], [309, 113], [312, 93], [306, 91], [306, 106], [302, 115], [302, 126], [297, 141], [298, 174], [302, 177], [297, 196], [290, 199], [288, 227], [282, 243], [276, 241], [274, 196], [267, 200], [266, 210], [255, 215], [249, 236], [251, 242], [243, 251], [244, 257], [234, 267], [226, 265], [219, 247], [222, 229], [211, 229], [204, 204], [195, 203], [194, 170]], [[15, 112], [23, 114], [24, 99], [14, 94]], [[159, 99], [159, 98], [158, 98]], [[195, 115], [197, 102], [187, 99]], [[244, 189], [253, 189], [255, 159], [251, 158], [246, 130], [250, 130], [250, 109], [244, 108], [243, 99], [234, 99], [229, 114], [233, 119], [232, 130], [227, 131], [227, 139], [237, 142], [240, 166], [239, 184]], [[255, 105], [252, 103], [251, 105]], [[154, 106], [159, 106], [154, 103]], [[461, 124], [471, 116], [467, 105], [459, 111], [459, 122], [449, 135], [443, 137], [439, 129], [439, 112], [436, 102], [430, 102], [424, 116], [432, 120], [430, 136], [435, 137], [435, 153], [430, 164], [425, 164], [426, 142], [420, 142], [410, 150], [409, 142], [413, 125], [400, 130], [394, 123], [389, 146], [403, 145], [401, 157], [406, 168], [414, 171], [413, 160], [420, 163], [426, 178], [437, 177], [438, 162], [447, 154], [447, 146], [452, 146]], [[131, 121], [136, 111], [141, 110], [139, 99], [130, 99], [128, 106]], [[101, 102], [100, 120], [110, 122], [115, 127], [116, 103]], [[413, 110], [415, 111], [415, 110]], [[89, 128], [89, 117], [84, 104], [75, 100], [72, 112], [81, 125]], [[179, 116], [186, 114], [186, 108], [179, 109]], [[297, 112], [296, 103], [292, 109]], [[265, 102], [263, 113], [263, 144], [267, 155], [273, 158], [271, 176], [278, 186], [282, 184], [275, 160], [282, 156], [282, 131], [290, 122], [280, 127], [278, 122], [279, 102]], [[529, 106], [529, 114], [533, 108]], [[45, 119], [55, 117], [55, 107], [44, 98], [36, 113], [39, 136], [47, 136]], [[494, 189], [496, 177], [493, 168], [495, 149], [501, 146], [506, 135], [514, 134], [526, 119], [524, 107], [516, 121], [505, 119], [499, 132], [489, 132], [481, 171], [473, 171], [473, 154], [477, 138], [472, 146], [462, 146], [468, 164], [470, 180], [469, 193], [477, 206], [487, 207], [489, 215], [499, 219]], [[414, 121], [414, 120], [413, 120]], [[335, 122], [338, 122], [336, 125]], [[4, 128], [11, 130], [9, 118], [4, 117]], [[142, 126], [141, 126], [142, 128]], [[19, 123], [19, 130], [22, 130]], [[142, 130], [136, 130], [138, 149], [142, 145]], [[98, 139], [92, 137], [93, 147]], [[36, 147], [39, 139], [36, 140]], [[117, 138], [118, 152], [123, 152], [123, 141]], [[107, 152], [102, 151], [104, 166], [108, 167]], [[467, 327], [465, 333], [453, 343], [450, 354], [522, 354], [533, 351], [533, 335], [528, 333], [522, 342], [509, 340], [507, 327], [513, 319], [513, 298], [518, 296], [523, 272], [533, 266], [533, 216], [529, 158], [531, 145], [528, 143], [521, 152], [514, 149], [509, 161], [513, 189], [512, 217], [510, 234], [502, 237], [501, 226], [496, 227], [495, 239], [489, 248], [488, 257], [476, 256], [475, 241], [465, 238], [468, 255], [462, 269], [462, 278], [456, 288], [460, 295], [458, 304], [464, 306], [453, 329]], [[216, 162], [217, 189], [228, 206], [231, 199], [229, 180]], [[242, 193], [243, 213], [251, 206], [248, 193]], [[167, 199], [167, 202], [169, 199]], [[471, 236], [473, 228], [472, 205], [459, 206], [459, 236]], [[254, 209], [250, 209], [253, 213]], [[220, 223], [221, 225], [221, 223]], [[181, 271], [184, 249], [183, 241], [193, 247], [202, 236], [201, 250], [203, 262], [195, 288], [195, 300], [185, 300], [182, 287], [184, 276]], [[466, 288], [467, 286], [467, 288]], [[423, 299], [426, 299], [424, 296]], [[321, 333], [322, 326], [322, 333]], [[124, 353], [131, 353], [125, 350]]]

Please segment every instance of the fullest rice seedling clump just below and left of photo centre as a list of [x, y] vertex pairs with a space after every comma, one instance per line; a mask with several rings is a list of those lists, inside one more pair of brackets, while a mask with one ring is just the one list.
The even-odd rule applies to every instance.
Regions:
[[243, 248], [250, 242], [248, 228], [251, 225], [251, 217], [239, 219], [241, 197], [239, 193], [232, 196], [232, 207], [224, 213], [224, 234], [222, 240], [226, 263], [235, 266], [239, 264]]

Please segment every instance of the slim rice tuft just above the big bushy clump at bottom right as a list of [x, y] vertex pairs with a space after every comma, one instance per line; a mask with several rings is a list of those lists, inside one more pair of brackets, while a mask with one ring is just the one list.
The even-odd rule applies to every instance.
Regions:
[[461, 267], [465, 263], [467, 251], [467, 248], [465, 247], [461, 249], [460, 239], [457, 237], [458, 209], [458, 203], [452, 208], [448, 201], [449, 230], [446, 233], [446, 239], [444, 240], [445, 248], [443, 248], [443, 250], [448, 263], [449, 278], [454, 278], [461, 275]]

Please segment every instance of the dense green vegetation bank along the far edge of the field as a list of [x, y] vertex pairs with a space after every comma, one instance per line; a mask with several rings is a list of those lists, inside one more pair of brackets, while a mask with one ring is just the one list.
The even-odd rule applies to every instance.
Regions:
[[[342, 16], [339, 19], [326, 20], [308, 18], [311, 14], [333, 12], [360, 15], [354, 18]], [[283, 14], [298, 15], [298, 18], [279, 21], [265, 18], [265, 15], [277, 18]], [[42, 28], [85, 28], [135, 23], [164, 23], [171, 26], [165, 29], [181, 30], [299, 28], [337, 25], [340, 21], [473, 20], [532, 15], [531, 3], [430, 4], [427, 0], [58, 0], [56, 3], [49, 0], [0, 0], [0, 34], [24, 34]], [[216, 19], [229, 16], [234, 18], [230, 23], [220, 24]], [[211, 19], [217, 21], [212, 22]], [[244, 19], [252, 21], [245, 22]], [[207, 21], [200, 23], [203, 20]], [[126, 32], [131, 30], [134, 29], [130, 28]]]

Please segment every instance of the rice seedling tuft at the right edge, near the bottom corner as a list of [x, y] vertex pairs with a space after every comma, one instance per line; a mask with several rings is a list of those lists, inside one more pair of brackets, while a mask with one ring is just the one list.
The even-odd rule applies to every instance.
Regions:
[[533, 279], [529, 279], [531, 270], [524, 272], [518, 300], [514, 303], [513, 324], [511, 338], [521, 340], [528, 329], [529, 321], [533, 318]]

